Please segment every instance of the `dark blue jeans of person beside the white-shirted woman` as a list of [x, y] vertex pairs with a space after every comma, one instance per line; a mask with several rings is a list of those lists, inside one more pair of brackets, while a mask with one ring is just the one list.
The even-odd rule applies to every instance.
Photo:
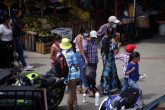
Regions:
[[15, 45], [16, 45], [16, 51], [18, 53], [18, 58], [21, 61], [22, 66], [24, 67], [24, 66], [26, 66], [26, 62], [25, 62], [25, 58], [23, 55], [23, 48], [22, 48], [21, 41], [20, 41], [19, 37], [15, 38]]

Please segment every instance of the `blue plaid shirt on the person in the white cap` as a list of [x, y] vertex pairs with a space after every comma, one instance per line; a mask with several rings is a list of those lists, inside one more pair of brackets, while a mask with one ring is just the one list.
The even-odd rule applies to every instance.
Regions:
[[96, 42], [90, 42], [87, 46], [87, 58], [89, 63], [98, 63]]

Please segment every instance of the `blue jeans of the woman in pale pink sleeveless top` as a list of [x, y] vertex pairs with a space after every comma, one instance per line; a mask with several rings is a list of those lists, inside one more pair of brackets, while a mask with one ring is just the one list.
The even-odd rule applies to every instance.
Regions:
[[78, 86], [82, 86], [82, 83], [84, 84], [85, 88], [88, 88], [88, 84], [87, 84], [87, 81], [85, 79], [85, 61], [81, 55], [80, 52], [76, 52], [76, 58], [77, 58], [77, 61], [78, 61], [78, 66], [79, 66], [79, 69], [80, 69], [80, 81], [79, 81], [79, 84]]

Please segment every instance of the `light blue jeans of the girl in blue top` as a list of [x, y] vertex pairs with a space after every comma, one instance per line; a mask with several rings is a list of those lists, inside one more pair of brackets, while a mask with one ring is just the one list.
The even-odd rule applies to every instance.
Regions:
[[[139, 85], [137, 84], [137, 82], [133, 81], [132, 79], [129, 79], [128, 84], [129, 84], [129, 86], [138, 89], [139, 93], [140, 93], [140, 88], [139, 88]], [[136, 101], [136, 105], [138, 105], [139, 107], [141, 106], [141, 100], [140, 99], [141, 99], [141, 96], [139, 95], [138, 100]]]

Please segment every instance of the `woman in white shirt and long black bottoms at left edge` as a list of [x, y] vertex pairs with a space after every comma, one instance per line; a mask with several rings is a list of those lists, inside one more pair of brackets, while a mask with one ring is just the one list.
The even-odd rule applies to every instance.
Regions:
[[0, 68], [12, 68], [14, 66], [13, 56], [13, 33], [9, 24], [9, 15], [0, 16]]

